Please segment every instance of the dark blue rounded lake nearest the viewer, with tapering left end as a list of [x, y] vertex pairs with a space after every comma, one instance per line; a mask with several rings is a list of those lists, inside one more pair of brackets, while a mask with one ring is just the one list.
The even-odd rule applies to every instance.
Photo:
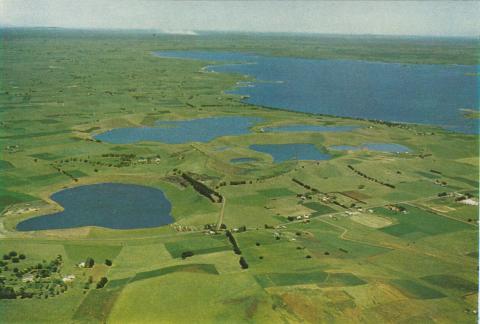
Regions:
[[59, 191], [52, 200], [64, 210], [18, 223], [18, 231], [100, 226], [113, 229], [157, 227], [173, 222], [171, 205], [158, 189], [102, 183]]

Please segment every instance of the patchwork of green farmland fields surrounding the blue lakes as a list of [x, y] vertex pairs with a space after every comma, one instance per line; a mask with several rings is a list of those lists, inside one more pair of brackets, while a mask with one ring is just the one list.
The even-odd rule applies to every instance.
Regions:
[[[0, 322], [476, 323], [478, 135], [257, 107], [225, 93], [248, 77], [207, 73], [201, 70], [206, 62], [152, 55], [230, 50], [476, 64], [475, 42], [2, 32], [0, 256], [6, 258], [0, 288], [2, 296], [7, 287], [17, 295], [0, 299]], [[249, 134], [206, 143], [94, 139], [112, 128], [212, 116], [262, 121]], [[289, 124], [358, 128], [321, 135], [260, 131]], [[397, 143], [412, 152], [332, 151], [331, 160], [274, 164], [249, 149], [369, 142]], [[245, 156], [256, 160], [230, 163]], [[215, 188], [224, 205], [199, 194], [182, 173]], [[161, 189], [174, 223], [133, 230], [15, 230], [22, 220], [58, 212], [53, 193], [108, 182]], [[467, 194], [470, 200], [463, 199]], [[220, 220], [225, 226], [217, 230]], [[14, 261], [10, 252], [25, 259]], [[49, 262], [58, 255], [62, 262], [52, 269]], [[241, 267], [241, 257], [248, 268]], [[95, 261], [91, 268], [79, 266], [88, 258]], [[108, 281], [97, 288], [102, 278]], [[22, 298], [25, 291], [33, 295]]]

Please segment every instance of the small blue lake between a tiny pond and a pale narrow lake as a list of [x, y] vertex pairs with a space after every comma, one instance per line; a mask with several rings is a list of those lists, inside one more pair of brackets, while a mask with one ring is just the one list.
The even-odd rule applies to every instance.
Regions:
[[328, 160], [330, 155], [320, 152], [313, 144], [254, 144], [250, 149], [270, 154], [273, 162], [288, 160]]

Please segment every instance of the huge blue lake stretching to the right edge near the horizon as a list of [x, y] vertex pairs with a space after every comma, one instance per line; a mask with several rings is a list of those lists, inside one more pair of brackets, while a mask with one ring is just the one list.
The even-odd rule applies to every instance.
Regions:
[[[240, 73], [257, 81], [230, 93], [246, 102], [294, 111], [439, 125], [478, 133], [479, 121], [460, 109], [478, 109], [477, 66], [312, 60], [221, 52], [156, 52], [197, 59], [209, 71]], [[238, 64], [238, 63], [248, 64]], [[263, 82], [271, 81], [271, 82]], [[243, 85], [243, 86], [242, 86]]]

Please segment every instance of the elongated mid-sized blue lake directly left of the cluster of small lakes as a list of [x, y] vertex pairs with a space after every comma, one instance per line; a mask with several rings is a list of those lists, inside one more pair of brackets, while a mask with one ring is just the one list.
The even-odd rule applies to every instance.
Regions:
[[217, 137], [243, 135], [260, 121], [250, 117], [213, 117], [182, 121], [158, 122], [154, 127], [116, 128], [95, 136], [103, 142], [130, 144], [158, 141], [169, 144], [209, 142]]

